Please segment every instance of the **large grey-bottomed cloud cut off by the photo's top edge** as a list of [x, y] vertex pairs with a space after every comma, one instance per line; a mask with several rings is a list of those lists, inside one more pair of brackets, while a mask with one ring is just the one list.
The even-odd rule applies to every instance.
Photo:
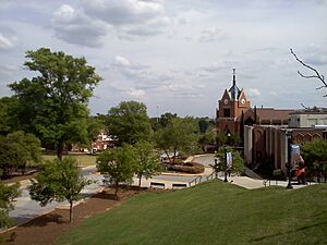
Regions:
[[156, 36], [167, 32], [170, 25], [162, 1], [84, 0], [83, 9], [92, 19], [111, 25], [121, 39]]

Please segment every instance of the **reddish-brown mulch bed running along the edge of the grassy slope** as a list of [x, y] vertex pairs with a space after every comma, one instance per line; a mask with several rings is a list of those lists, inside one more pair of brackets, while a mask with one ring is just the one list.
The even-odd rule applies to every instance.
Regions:
[[[116, 206], [123, 204], [131, 196], [143, 192], [165, 192], [164, 189], [147, 189], [138, 187], [122, 188], [119, 192], [119, 200], [114, 198], [114, 191], [108, 188], [102, 193], [81, 203], [73, 208], [72, 223], [69, 223], [69, 209], [56, 209], [40, 216], [21, 226], [12, 229], [1, 237], [8, 245], [52, 245], [56, 240], [71, 228], [78, 226], [86, 219], [94, 215], [105, 212]], [[167, 191], [166, 191], [167, 192]]]

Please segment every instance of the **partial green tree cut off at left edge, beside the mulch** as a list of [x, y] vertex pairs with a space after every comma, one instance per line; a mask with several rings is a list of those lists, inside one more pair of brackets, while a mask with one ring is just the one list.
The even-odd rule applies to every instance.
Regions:
[[12, 224], [9, 211], [13, 210], [13, 201], [21, 195], [19, 184], [4, 185], [0, 182], [0, 228], [8, 228]]

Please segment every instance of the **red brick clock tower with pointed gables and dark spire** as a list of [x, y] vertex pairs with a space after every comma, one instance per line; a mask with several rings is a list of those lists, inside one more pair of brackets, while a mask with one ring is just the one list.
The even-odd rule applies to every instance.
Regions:
[[242, 112], [245, 113], [250, 108], [243, 88], [237, 86], [237, 74], [233, 69], [232, 86], [229, 90], [225, 89], [217, 109], [217, 130], [220, 133], [240, 134]]

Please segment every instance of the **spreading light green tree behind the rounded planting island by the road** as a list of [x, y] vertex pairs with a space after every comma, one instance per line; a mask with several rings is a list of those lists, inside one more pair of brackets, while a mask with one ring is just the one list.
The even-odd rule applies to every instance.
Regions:
[[[172, 119], [171, 122], [155, 134], [155, 140], [167, 155], [169, 162], [174, 163], [178, 151], [192, 154], [198, 150], [198, 131], [192, 118]], [[173, 154], [172, 159], [170, 154]]]

